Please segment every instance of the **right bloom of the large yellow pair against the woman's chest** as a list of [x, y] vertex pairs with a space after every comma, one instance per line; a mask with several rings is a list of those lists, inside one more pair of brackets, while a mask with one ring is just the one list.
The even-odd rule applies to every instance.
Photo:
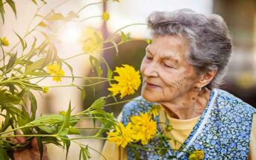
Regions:
[[132, 116], [131, 123], [136, 132], [134, 138], [137, 141], [141, 140], [143, 145], [148, 144], [149, 140], [154, 138], [157, 132], [157, 123], [151, 119], [149, 113], [140, 113], [140, 115]]

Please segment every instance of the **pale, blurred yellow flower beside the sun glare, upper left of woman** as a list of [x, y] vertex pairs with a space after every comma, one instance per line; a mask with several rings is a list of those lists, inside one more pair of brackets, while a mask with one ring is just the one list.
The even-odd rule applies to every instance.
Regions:
[[100, 51], [103, 47], [102, 33], [94, 28], [87, 28], [82, 35], [81, 41], [84, 52], [97, 52]]

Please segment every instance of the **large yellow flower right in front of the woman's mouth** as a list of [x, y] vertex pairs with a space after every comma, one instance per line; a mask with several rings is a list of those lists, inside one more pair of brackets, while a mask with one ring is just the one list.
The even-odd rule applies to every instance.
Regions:
[[118, 83], [110, 84], [111, 88], [108, 88], [108, 90], [113, 95], [120, 93], [121, 98], [125, 95], [133, 95], [141, 83], [139, 71], [135, 71], [131, 65], [122, 65], [122, 67], [116, 67], [114, 72], [119, 74], [119, 76], [113, 77]]

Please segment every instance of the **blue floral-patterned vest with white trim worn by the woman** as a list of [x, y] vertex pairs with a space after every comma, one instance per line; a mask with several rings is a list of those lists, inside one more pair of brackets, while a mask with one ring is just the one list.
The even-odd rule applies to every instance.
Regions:
[[[147, 112], [152, 105], [157, 103], [149, 103], [143, 97], [135, 98], [124, 106], [122, 123], [128, 124], [131, 116]], [[181, 150], [203, 150], [205, 159], [247, 159], [255, 112], [256, 109], [234, 95], [213, 89], [205, 111]], [[159, 118], [155, 121], [159, 122]], [[163, 132], [159, 124], [157, 132]], [[128, 159], [188, 159], [187, 153], [172, 150], [168, 141], [160, 138], [154, 138], [145, 147], [148, 150], [128, 146]], [[169, 150], [158, 150], [163, 147]]]

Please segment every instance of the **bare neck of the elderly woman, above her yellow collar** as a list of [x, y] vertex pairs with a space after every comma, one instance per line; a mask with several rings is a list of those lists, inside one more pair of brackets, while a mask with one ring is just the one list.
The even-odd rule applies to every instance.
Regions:
[[191, 119], [202, 115], [210, 97], [210, 90], [190, 90], [171, 102], [161, 103], [167, 115], [177, 119]]

